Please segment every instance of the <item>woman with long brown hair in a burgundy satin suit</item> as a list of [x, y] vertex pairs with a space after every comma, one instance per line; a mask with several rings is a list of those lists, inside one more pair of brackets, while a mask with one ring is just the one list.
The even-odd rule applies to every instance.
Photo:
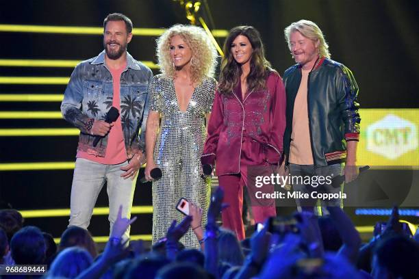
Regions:
[[[264, 56], [259, 32], [251, 26], [231, 29], [225, 40], [218, 90], [201, 162], [214, 165], [225, 191], [223, 227], [244, 239], [243, 189], [249, 167], [280, 165], [285, 131], [285, 89]], [[273, 189], [273, 186], [272, 186]], [[272, 190], [271, 189], [271, 190]], [[251, 196], [251, 200], [254, 200]], [[251, 202], [255, 222], [275, 216], [275, 200]]]

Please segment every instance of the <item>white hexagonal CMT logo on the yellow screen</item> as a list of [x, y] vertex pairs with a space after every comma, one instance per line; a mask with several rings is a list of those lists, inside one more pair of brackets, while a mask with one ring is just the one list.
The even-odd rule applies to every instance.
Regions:
[[367, 150], [388, 159], [396, 159], [417, 147], [416, 125], [393, 114], [370, 124], [367, 129]]

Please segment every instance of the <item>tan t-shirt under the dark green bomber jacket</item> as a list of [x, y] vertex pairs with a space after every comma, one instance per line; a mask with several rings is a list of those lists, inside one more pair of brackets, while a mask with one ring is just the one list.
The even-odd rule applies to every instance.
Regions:
[[294, 102], [290, 157], [288, 161], [297, 165], [313, 165], [307, 110], [307, 79], [309, 70], [301, 69], [301, 83]]

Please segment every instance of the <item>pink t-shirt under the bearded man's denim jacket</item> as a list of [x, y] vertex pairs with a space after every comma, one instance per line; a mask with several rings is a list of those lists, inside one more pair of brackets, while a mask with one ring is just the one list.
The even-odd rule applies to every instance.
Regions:
[[[112, 81], [114, 85], [114, 98], [112, 101], [112, 106], [116, 107], [120, 113], [120, 75], [127, 67], [125, 64], [120, 68], [110, 68], [112, 74]], [[120, 122], [120, 116], [114, 122], [114, 127], [112, 127], [107, 135], [107, 146], [105, 157], [99, 157], [88, 152], [77, 151], [77, 158], [88, 159], [97, 163], [103, 163], [105, 165], [116, 165], [118, 163], [123, 163], [127, 161], [127, 151], [125, 150], [125, 142], [123, 137], [122, 124]]]

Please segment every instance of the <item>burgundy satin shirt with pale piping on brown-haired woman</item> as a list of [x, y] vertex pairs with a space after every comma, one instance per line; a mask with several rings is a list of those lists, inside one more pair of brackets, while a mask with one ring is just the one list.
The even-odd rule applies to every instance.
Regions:
[[[217, 176], [240, 172], [242, 151], [249, 165], [277, 164], [283, 160], [285, 88], [277, 72], [266, 79], [266, 90], [250, 92], [242, 100], [240, 83], [232, 94], [216, 91], [202, 164], [214, 165]], [[251, 150], [242, 143], [251, 141]], [[261, 154], [261, 152], [263, 154]]]

